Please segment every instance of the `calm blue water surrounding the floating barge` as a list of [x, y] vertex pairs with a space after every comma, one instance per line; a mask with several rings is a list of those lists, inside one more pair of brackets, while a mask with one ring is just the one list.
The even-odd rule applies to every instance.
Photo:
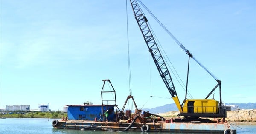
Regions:
[[[81, 131], [52, 128], [54, 119], [6, 118], [0, 119], [0, 134], [146, 134], [142, 132]], [[234, 126], [238, 134], [256, 134], [256, 123], [238, 123]], [[160, 134], [152, 132], [149, 134]], [[169, 134], [169, 133], [161, 133]]]

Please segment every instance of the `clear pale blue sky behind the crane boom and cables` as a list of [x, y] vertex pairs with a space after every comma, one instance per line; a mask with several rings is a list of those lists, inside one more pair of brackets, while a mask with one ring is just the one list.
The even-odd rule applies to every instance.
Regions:
[[[225, 103], [255, 103], [255, 0], [154, 0], [143, 3], [222, 81]], [[143, 10], [186, 82], [187, 55]], [[0, 107], [101, 104], [110, 79], [122, 108], [129, 95], [126, 0], [0, 0]], [[132, 95], [138, 108], [174, 103], [128, 4]], [[175, 78], [173, 78], [175, 79]], [[189, 92], [203, 99], [217, 83], [193, 60]], [[176, 80], [180, 101], [184, 91]], [[218, 98], [218, 90], [214, 92]], [[150, 97], [150, 96], [157, 97]], [[212, 98], [210, 96], [209, 98]]]

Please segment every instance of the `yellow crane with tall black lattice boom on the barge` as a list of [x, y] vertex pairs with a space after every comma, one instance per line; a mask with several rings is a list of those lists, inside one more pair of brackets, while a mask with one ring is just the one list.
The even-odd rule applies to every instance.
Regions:
[[[218, 80], [210, 71], [207, 70], [198, 60], [193, 57], [193, 55], [186, 49], [172, 34], [172, 38], [180, 45], [180, 47], [189, 55], [189, 59], [193, 58], [200, 66], [202, 66], [212, 77], [217, 81], [217, 85], [212, 89], [212, 91], [207, 95], [205, 99], [186, 99], [183, 103], [180, 103], [180, 100], [177, 96], [177, 92], [175, 90], [175, 86], [172, 81], [172, 77], [170, 72], [166, 66], [166, 63], [163, 59], [163, 56], [160, 52], [160, 49], [157, 46], [157, 42], [154, 39], [154, 36], [151, 32], [151, 29], [148, 24], [148, 20], [143, 14], [140, 6], [137, 3], [137, 0], [130, 0], [134, 17], [137, 21], [137, 24], [140, 28], [140, 31], [143, 35], [145, 43], [148, 47], [148, 50], [154, 60], [154, 63], [157, 67], [157, 70], [162, 78], [166, 88], [171, 94], [172, 99], [174, 100], [178, 110], [180, 111], [180, 115], [185, 118], [199, 118], [199, 117], [211, 117], [211, 118], [225, 118], [227, 117], [226, 110], [221, 105], [221, 80]], [[168, 31], [168, 30], [167, 30]], [[169, 31], [168, 31], [169, 32]], [[189, 67], [188, 67], [189, 70]], [[188, 79], [188, 77], [187, 77]], [[212, 94], [213, 91], [219, 86], [220, 89], [220, 101], [214, 99], [208, 99], [208, 97]], [[186, 86], [187, 87], [187, 86]], [[187, 94], [187, 88], [186, 88]]]

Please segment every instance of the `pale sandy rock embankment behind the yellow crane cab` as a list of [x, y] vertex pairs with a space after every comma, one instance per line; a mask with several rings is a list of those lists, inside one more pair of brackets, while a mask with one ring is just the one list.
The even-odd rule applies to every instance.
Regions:
[[[178, 117], [178, 111], [169, 111], [158, 114], [166, 119]], [[256, 122], [256, 109], [242, 109], [237, 111], [227, 111], [227, 121], [230, 122]]]

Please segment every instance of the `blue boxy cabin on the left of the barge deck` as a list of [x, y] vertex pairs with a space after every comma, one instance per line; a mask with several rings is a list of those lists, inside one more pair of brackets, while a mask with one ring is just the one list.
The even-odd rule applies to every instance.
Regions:
[[[115, 117], [114, 106], [115, 105], [67, 105], [67, 117], [69, 120], [101, 120], [103, 121], [103, 115], [108, 110], [108, 121], [111, 121]], [[104, 115], [105, 116], [105, 115]], [[104, 121], [106, 117], [104, 117]]]

